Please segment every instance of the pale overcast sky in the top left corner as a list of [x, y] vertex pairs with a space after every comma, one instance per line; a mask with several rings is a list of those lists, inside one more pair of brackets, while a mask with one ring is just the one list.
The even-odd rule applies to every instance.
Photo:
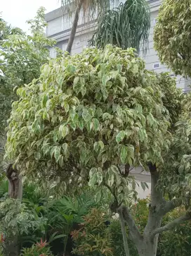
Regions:
[[13, 27], [27, 31], [26, 20], [34, 18], [39, 7], [44, 6], [46, 13], [60, 7], [58, 0], [0, 0], [0, 12], [6, 22]]

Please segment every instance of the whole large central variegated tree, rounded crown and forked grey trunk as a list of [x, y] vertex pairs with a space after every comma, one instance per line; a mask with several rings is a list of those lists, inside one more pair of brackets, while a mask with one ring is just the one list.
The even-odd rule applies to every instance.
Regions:
[[[87, 181], [94, 188], [106, 186], [114, 195], [110, 207], [119, 213], [126, 255], [125, 223], [139, 255], [154, 256], [158, 234], [190, 219], [182, 196], [188, 189], [183, 183], [190, 169], [180, 165], [181, 156], [171, 155], [173, 143], [178, 143], [174, 134], [179, 138], [179, 132], [173, 124], [181, 106], [176, 82], [168, 74], [147, 71], [133, 49], [108, 45], [52, 59], [42, 66], [38, 79], [17, 92], [20, 99], [13, 103], [7, 157], [15, 160], [22, 175], [56, 176], [68, 190]], [[180, 147], [177, 154], [181, 155]], [[129, 174], [132, 166], [143, 166], [151, 173], [150, 214], [144, 233], [126, 202], [126, 196], [136, 190]], [[183, 175], [181, 193], [176, 193], [178, 168]], [[171, 185], [165, 176], [171, 176]], [[165, 192], [173, 191], [176, 197], [164, 200], [159, 181], [166, 183]], [[166, 212], [182, 203], [187, 205], [185, 217], [161, 227]]]

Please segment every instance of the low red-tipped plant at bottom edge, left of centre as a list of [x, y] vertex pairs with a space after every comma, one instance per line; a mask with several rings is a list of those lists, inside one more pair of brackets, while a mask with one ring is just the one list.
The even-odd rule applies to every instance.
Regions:
[[53, 256], [51, 252], [51, 248], [48, 246], [48, 243], [46, 243], [46, 240], [43, 241], [42, 238], [39, 243], [32, 245], [31, 248], [22, 249], [21, 255], [22, 256]]

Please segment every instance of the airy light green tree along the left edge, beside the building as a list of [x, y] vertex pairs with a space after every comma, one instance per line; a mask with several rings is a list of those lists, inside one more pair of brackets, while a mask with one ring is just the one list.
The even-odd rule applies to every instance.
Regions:
[[[0, 68], [2, 72], [0, 75], [0, 146], [2, 150], [5, 141], [4, 129], [11, 112], [11, 103], [17, 99], [13, 88], [28, 84], [34, 78], [39, 77], [41, 65], [49, 60], [49, 51], [46, 47], [55, 44], [54, 40], [48, 39], [44, 35], [46, 27], [44, 8], [40, 8], [34, 20], [29, 20], [27, 23], [30, 25], [31, 35], [27, 35], [19, 28], [11, 28], [3, 20], [0, 22]], [[1, 151], [1, 158], [2, 155]], [[1, 169], [4, 169], [5, 166], [1, 159]], [[17, 171], [13, 168], [8, 170], [7, 176], [10, 183], [13, 184], [9, 193], [13, 197], [18, 197], [20, 186], [18, 186]], [[13, 173], [15, 175], [12, 175]]]

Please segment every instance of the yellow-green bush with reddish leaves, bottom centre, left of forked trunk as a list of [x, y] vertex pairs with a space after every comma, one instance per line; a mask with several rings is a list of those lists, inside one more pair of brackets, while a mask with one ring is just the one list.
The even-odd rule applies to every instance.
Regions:
[[112, 240], [105, 224], [106, 220], [100, 209], [91, 209], [84, 217], [84, 225], [72, 232], [76, 247], [73, 252], [77, 255], [112, 256]]

